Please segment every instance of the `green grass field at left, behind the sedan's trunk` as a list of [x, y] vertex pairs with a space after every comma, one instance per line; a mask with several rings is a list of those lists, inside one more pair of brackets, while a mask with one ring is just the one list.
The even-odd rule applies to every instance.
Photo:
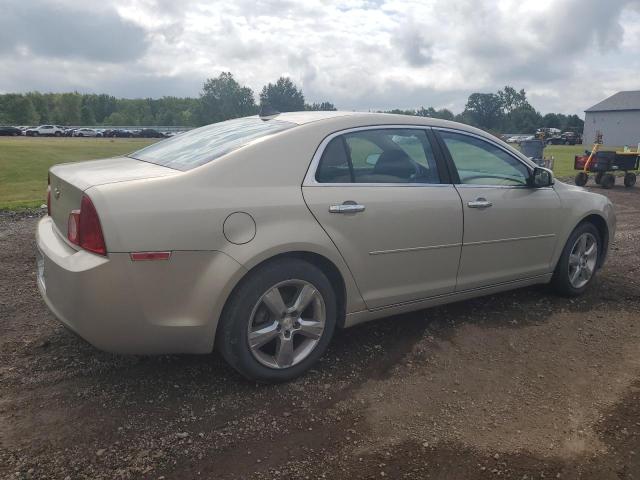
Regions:
[[39, 207], [56, 163], [108, 158], [153, 143], [144, 138], [0, 137], [0, 209]]

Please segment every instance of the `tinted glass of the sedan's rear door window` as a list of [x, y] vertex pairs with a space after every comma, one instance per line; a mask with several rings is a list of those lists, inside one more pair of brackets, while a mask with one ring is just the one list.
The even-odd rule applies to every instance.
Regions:
[[378, 129], [346, 133], [325, 148], [320, 183], [440, 183], [424, 130]]

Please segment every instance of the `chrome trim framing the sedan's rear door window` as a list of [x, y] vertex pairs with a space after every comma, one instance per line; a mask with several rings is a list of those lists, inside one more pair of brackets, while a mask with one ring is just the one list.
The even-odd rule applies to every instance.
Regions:
[[[311, 159], [311, 164], [307, 169], [307, 174], [304, 177], [302, 182], [303, 187], [451, 187], [453, 186], [451, 183], [357, 183], [357, 182], [345, 182], [345, 183], [323, 183], [318, 182], [316, 180], [316, 170], [318, 169], [318, 165], [320, 164], [320, 159], [322, 158], [322, 154], [324, 150], [327, 148], [327, 145], [334, 138], [345, 135], [347, 133], [353, 132], [362, 132], [366, 130], [423, 130], [426, 132], [432, 127], [428, 125], [402, 125], [402, 124], [388, 124], [388, 125], [367, 125], [365, 127], [352, 127], [346, 128], [344, 130], [339, 130], [337, 132], [333, 132], [332, 134], [326, 136], [318, 148], [316, 152], [313, 154]], [[429, 138], [427, 137], [427, 141]], [[434, 152], [435, 154], [435, 152]], [[439, 176], [440, 172], [438, 172]]]

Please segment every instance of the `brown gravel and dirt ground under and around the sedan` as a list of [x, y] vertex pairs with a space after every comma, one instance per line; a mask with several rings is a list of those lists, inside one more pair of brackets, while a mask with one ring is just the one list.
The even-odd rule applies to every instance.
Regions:
[[0, 214], [0, 477], [640, 478], [640, 188], [606, 194], [618, 233], [588, 295], [341, 331], [277, 386], [95, 350], [39, 297], [38, 212]]

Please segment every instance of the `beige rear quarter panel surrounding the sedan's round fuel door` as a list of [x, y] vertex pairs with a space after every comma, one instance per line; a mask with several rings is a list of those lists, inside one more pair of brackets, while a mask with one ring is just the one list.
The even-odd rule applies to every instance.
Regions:
[[[292, 132], [303, 127], [292, 129]], [[322, 133], [301, 131], [286, 141], [263, 141], [210, 164], [171, 177], [90, 188], [109, 252], [220, 251], [250, 270], [288, 252], [311, 252], [330, 260], [346, 287], [347, 312], [364, 303], [342, 256], [309, 212], [302, 181]], [[287, 133], [287, 132], [284, 132]], [[223, 225], [245, 212], [255, 237], [237, 245]], [[234, 284], [238, 278], [230, 278]], [[215, 298], [214, 318], [226, 302]]]

